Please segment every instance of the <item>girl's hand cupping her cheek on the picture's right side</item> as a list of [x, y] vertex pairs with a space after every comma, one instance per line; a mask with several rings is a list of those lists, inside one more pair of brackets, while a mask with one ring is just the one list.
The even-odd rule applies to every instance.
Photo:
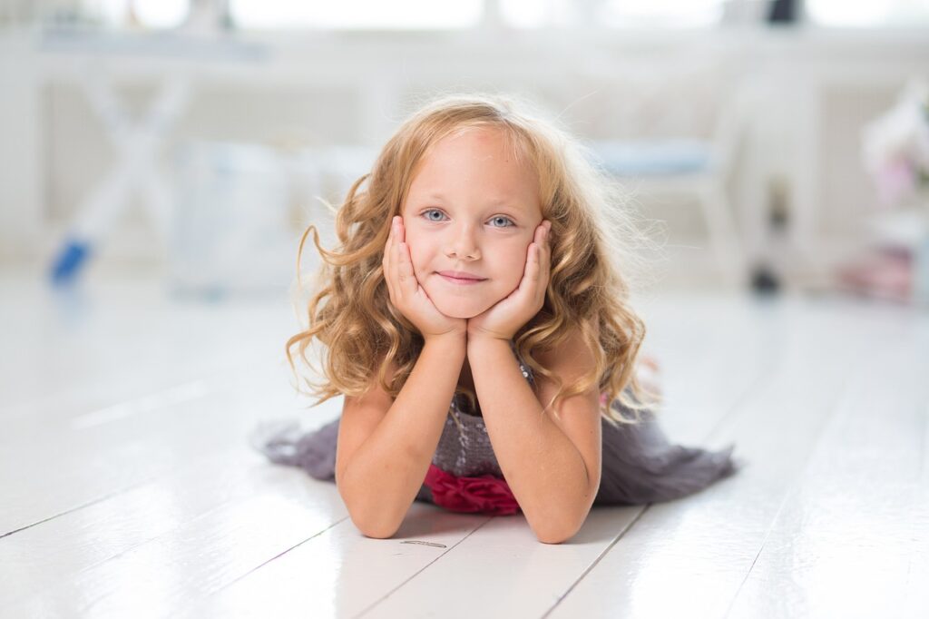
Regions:
[[468, 320], [468, 341], [480, 337], [509, 341], [521, 326], [542, 310], [551, 269], [552, 250], [548, 244], [551, 228], [552, 222], [546, 220], [535, 229], [535, 237], [526, 256], [526, 268], [517, 289], [489, 310]]

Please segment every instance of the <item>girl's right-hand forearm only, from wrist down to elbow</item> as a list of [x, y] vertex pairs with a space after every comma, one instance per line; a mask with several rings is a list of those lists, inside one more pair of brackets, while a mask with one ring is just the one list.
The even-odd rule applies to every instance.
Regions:
[[581, 452], [543, 415], [509, 342], [469, 339], [467, 358], [507, 485], [541, 541], [564, 541], [580, 529], [592, 503]]

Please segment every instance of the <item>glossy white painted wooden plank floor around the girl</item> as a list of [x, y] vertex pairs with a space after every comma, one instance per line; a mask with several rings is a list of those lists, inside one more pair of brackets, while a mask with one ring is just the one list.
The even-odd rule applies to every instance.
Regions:
[[643, 299], [680, 442], [737, 477], [595, 508], [569, 543], [414, 504], [363, 537], [334, 484], [247, 435], [303, 410], [281, 298], [53, 293], [0, 270], [0, 616], [926, 617], [929, 313], [875, 302]]

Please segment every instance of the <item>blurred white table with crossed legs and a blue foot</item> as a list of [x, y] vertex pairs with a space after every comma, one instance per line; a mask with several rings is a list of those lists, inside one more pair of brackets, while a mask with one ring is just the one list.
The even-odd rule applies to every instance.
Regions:
[[[172, 198], [160, 174], [158, 158], [191, 99], [198, 66], [217, 61], [264, 59], [261, 46], [242, 45], [187, 35], [121, 35], [66, 30], [47, 31], [39, 41], [48, 56], [63, 55], [76, 62], [77, 83], [119, 156], [111, 170], [85, 195], [69, 222], [54, 258], [54, 283], [77, 277], [110, 232], [117, 217], [131, 204], [137, 191], [146, 205], [150, 223], [165, 242], [172, 225]], [[113, 60], [132, 59], [139, 66], [166, 62], [157, 72], [156, 93], [148, 112], [134, 120], [117, 95]], [[177, 60], [180, 60], [177, 63]], [[171, 66], [171, 61], [176, 66]]]

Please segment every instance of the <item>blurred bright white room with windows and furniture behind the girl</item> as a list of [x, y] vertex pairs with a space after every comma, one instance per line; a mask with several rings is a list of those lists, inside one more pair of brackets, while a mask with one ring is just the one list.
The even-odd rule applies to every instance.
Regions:
[[0, 0], [0, 265], [279, 293], [401, 120], [481, 90], [590, 147], [651, 283], [919, 302], [927, 79], [929, 0]]

